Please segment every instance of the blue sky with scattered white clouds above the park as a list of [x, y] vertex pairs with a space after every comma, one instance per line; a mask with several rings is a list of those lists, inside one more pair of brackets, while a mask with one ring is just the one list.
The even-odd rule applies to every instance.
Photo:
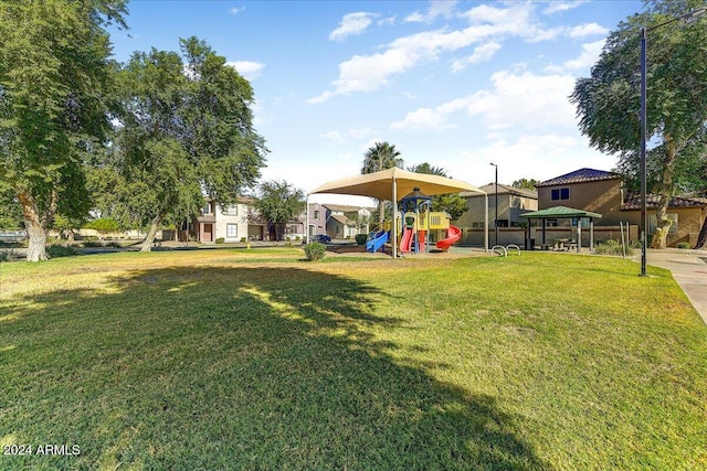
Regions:
[[[360, 172], [376, 141], [481, 186], [611, 170], [569, 103], [641, 1], [133, 0], [115, 56], [205, 40], [249, 78], [264, 180], [309, 191]], [[128, 36], [129, 34], [129, 36]], [[325, 199], [326, 200], [326, 199]], [[329, 199], [330, 200], [330, 199]], [[327, 200], [328, 201], [328, 200]]]

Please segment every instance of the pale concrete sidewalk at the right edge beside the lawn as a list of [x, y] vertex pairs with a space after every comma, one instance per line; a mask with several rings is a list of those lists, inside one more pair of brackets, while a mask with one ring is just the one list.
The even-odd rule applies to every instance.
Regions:
[[[641, 263], [640, 251], [633, 259]], [[675, 281], [707, 324], [707, 250], [648, 249], [646, 265], [671, 270]]]

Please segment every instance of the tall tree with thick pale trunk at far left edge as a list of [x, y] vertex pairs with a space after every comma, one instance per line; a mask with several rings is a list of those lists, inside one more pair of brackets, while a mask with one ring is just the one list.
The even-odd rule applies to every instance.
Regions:
[[124, 0], [0, 1], [0, 186], [22, 207], [27, 259], [54, 215], [88, 210], [83, 160], [105, 141], [110, 43]]

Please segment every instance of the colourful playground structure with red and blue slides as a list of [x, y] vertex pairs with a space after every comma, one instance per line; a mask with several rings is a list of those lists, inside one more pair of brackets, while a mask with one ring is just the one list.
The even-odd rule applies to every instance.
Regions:
[[402, 221], [400, 251], [403, 254], [420, 254], [429, 250], [430, 243], [436, 240], [436, 248], [449, 250], [450, 246], [457, 243], [462, 232], [450, 225], [450, 215], [445, 212], [431, 211], [432, 197], [414, 191], [400, 202]]

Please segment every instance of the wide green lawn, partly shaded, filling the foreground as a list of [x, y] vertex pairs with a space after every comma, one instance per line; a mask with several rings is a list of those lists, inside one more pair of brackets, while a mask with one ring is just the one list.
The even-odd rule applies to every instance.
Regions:
[[669, 272], [302, 258], [0, 264], [0, 469], [707, 469], [707, 328]]

